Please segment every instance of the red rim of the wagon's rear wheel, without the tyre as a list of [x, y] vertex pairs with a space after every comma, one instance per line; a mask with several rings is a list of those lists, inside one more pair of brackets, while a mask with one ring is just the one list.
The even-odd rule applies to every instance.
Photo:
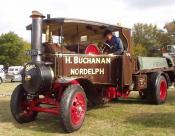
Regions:
[[160, 83], [160, 99], [165, 100], [167, 95], [167, 84], [166, 81]]

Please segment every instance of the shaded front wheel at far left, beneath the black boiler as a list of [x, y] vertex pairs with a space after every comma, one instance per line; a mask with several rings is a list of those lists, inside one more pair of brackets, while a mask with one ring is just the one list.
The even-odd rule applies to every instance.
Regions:
[[37, 116], [37, 112], [30, 109], [27, 92], [24, 90], [22, 84], [18, 85], [13, 91], [10, 108], [13, 117], [19, 123], [34, 121]]

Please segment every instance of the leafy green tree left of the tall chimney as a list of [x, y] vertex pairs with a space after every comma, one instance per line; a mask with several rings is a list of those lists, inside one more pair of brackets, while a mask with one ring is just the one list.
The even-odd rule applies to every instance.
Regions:
[[28, 42], [24, 41], [14, 32], [0, 36], [0, 64], [23, 65], [30, 58], [25, 51], [30, 49]]

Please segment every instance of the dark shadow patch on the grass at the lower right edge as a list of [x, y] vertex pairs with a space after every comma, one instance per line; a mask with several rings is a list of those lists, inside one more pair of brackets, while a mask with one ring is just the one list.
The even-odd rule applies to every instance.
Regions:
[[131, 124], [141, 124], [145, 127], [175, 129], [175, 112], [173, 113], [143, 113], [126, 119]]

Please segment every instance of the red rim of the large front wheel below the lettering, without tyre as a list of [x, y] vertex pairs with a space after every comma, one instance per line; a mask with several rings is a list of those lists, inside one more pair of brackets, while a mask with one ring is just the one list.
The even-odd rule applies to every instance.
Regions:
[[86, 99], [81, 93], [75, 94], [71, 103], [71, 122], [79, 125], [83, 121], [86, 112]]

